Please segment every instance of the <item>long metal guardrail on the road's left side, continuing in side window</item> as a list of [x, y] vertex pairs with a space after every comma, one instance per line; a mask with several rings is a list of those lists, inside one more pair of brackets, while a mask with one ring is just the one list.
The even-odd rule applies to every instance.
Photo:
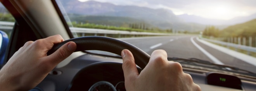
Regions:
[[[12, 30], [14, 22], [0, 21], [0, 29]], [[69, 27], [73, 33], [93, 33], [93, 34], [128, 34], [128, 35], [171, 35], [168, 33], [150, 33], [150, 32], [135, 32], [135, 31], [119, 31], [119, 30], [106, 30], [106, 29], [90, 29]]]

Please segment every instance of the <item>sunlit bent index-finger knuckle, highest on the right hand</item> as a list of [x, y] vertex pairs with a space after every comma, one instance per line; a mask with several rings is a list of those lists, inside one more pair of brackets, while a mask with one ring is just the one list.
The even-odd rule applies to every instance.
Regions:
[[163, 63], [167, 61], [167, 53], [164, 50], [155, 50], [150, 56], [149, 64], [163, 65]]

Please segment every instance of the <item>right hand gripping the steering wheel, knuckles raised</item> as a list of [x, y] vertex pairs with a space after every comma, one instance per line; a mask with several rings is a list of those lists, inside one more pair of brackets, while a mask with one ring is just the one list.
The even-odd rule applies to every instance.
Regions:
[[140, 74], [132, 53], [123, 50], [121, 55], [126, 91], [201, 91], [192, 77], [182, 71], [178, 62], [167, 60], [164, 50], [154, 51]]

